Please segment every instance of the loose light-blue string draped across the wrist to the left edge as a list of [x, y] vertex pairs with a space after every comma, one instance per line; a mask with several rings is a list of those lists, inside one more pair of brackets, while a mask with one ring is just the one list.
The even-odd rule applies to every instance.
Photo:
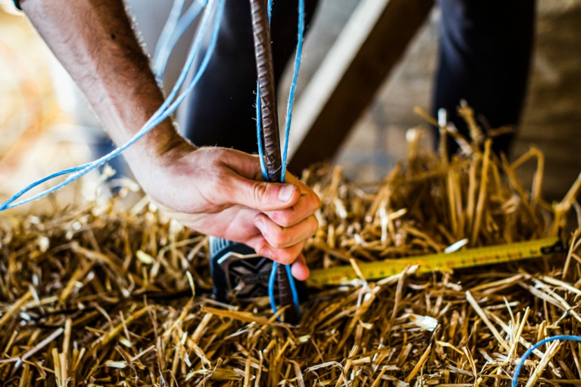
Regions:
[[[216, 1], [217, 1], [217, 3], [216, 3]], [[216, 4], [215, 7], [214, 7], [214, 4]], [[132, 144], [134, 144], [136, 141], [138, 141], [144, 135], [149, 133], [149, 131], [151, 131], [151, 129], [154, 129], [158, 124], [163, 122], [163, 120], [165, 120], [167, 117], [169, 117], [169, 115], [171, 115], [176, 110], [176, 108], [178, 108], [178, 106], [181, 104], [181, 102], [183, 102], [183, 100], [185, 100], [185, 97], [187, 96], [187, 94], [192, 91], [194, 86], [196, 86], [201, 75], [204, 73], [205, 69], [208, 67], [208, 63], [210, 62], [210, 57], [212, 56], [212, 52], [214, 51], [214, 48], [216, 46], [216, 40], [218, 38], [218, 31], [219, 31], [220, 21], [222, 19], [222, 15], [223, 15], [224, 5], [225, 5], [225, 0], [210, 0], [209, 4], [206, 7], [206, 10], [204, 12], [199, 32], [196, 35], [196, 38], [194, 39], [194, 44], [192, 45], [192, 49], [190, 50], [190, 54], [187, 57], [186, 63], [183, 67], [183, 70], [181, 71], [180, 76], [178, 77], [178, 81], [176, 82], [172, 91], [169, 93], [167, 99], [163, 102], [163, 104], [160, 106], [160, 108], [158, 108], [156, 113], [154, 113], [154, 115], [152, 115], [151, 118], [149, 118], [149, 120], [145, 123], [145, 125], [142, 126], [140, 131], [138, 131], [138, 133], [136, 133], [133, 136], [133, 138], [131, 138], [131, 140], [129, 140], [129, 142], [122, 145], [122, 147], [119, 147], [118, 149], [112, 151], [108, 155], [104, 155], [102, 158], [100, 158], [98, 160], [95, 160], [93, 162], [89, 162], [86, 164], [82, 164], [82, 165], [77, 166], [77, 167], [64, 169], [64, 170], [59, 171], [59, 172], [51, 173], [50, 175], [45, 176], [44, 178], [33, 182], [32, 184], [28, 185], [24, 189], [21, 189], [21, 191], [15, 193], [15, 195], [11, 196], [10, 198], [8, 198], [8, 200], [3, 202], [0, 205], [0, 211], [4, 211], [6, 209], [17, 207], [19, 205], [24, 205], [25, 203], [31, 202], [33, 200], [37, 200], [37, 199], [42, 198], [50, 193], [57, 191], [58, 189], [61, 189], [62, 187], [73, 182], [74, 180], [77, 180], [78, 178], [86, 175], [86, 173], [93, 171], [93, 169], [96, 169], [96, 168], [100, 167], [102, 164], [108, 162], [109, 160], [116, 158], [125, 149], [131, 147]], [[215, 12], [214, 12], [214, 8], [215, 8]], [[208, 45], [208, 50], [206, 51], [206, 53], [204, 55], [203, 61], [200, 64], [200, 67], [197, 70], [196, 75], [194, 75], [190, 84], [187, 85], [187, 88], [185, 89], [185, 91], [183, 93], [181, 93], [181, 95], [178, 95], [178, 97], [176, 98], [176, 95], [178, 94], [181, 86], [183, 86], [183, 84], [185, 82], [185, 79], [187, 77], [187, 73], [189, 73], [190, 68], [192, 68], [192, 64], [194, 63], [194, 58], [196, 57], [196, 53], [199, 51], [199, 48], [201, 47], [201, 43], [203, 41], [203, 35], [205, 35], [206, 30], [208, 30], [210, 20], [212, 19], [212, 13], [215, 14], [214, 15], [214, 26], [212, 28], [212, 37], [210, 38], [210, 44]], [[185, 30], [185, 28], [184, 28], [184, 30]], [[175, 99], [175, 101], [174, 101], [174, 99]], [[172, 102], [172, 101], [174, 101], [174, 102]], [[73, 173], [73, 175], [69, 176], [68, 178], [66, 178], [66, 180], [59, 183], [58, 185], [55, 185], [55, 187], [52, 187], [50, 189], [46, 189], [45, 191], [37, 193], [36, 195], [31, 196], [30, 198], [27, 198], [25, 200], [20, 200], [20, 201], [16, 202], [16, 200], [18, 200], [22, 195], [24, 195], [25, 193], [27, 193], [31, 189], [34, 189], [35, 187], [41, 185], [43, 182], [46, 182], [46, 181], [51, 180], [53, 178], [56, 178], [58, 176], [63, 176], [63, 175], [70, 174], [70, 173]]]

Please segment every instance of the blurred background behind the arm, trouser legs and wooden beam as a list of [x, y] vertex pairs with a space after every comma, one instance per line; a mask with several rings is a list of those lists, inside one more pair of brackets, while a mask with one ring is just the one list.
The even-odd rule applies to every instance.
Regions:
[[[172, 1], [127, 3], [152, 53]], [[299, 93], [358, 3], [322, 0], [306, 39]], [[510, 158], [514, 160], [531, 146], [539, 148], [546, 162], [544, 198], [559, 200], [581, 172], [581, 0], [538, 0], [537, 8], [531, 81]], [[413, 108], [430, 108], [439, 19], [439, 10], [434, 8], [333, 160], [351, 180], [379, 180], [405, 159], [407, 129], [428, 129]], [[166, 88], [172, 86], [183, 64], [187, 41], [187, 37], [181, 39], [169, 62]], [[92, 160], [91, 149], [110, 147], [80, 92], [26, 17], [8, 0], [0, 0], [0, 138], [0, 200], [48, 173]], [[426, 144], [426, 149], [431, 147]], [[122, 170], [120, 165], [113, 167]], [[531, 161], [519, 169], [526, 184], [530, 185], [535, 167]], [[81, 196], [91, 196], [97, 179], [96, 173], [88, 176], [82, 184], [34, 207], [62, 208]]]

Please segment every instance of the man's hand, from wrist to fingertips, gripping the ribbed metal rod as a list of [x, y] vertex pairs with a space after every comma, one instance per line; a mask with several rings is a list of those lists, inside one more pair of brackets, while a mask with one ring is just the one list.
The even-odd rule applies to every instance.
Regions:
[[135, 160], [139, 167], [133, 170], [166, 214], [204, 234], [245, 243], [279, 263], [293, 263], [295, 278], [308, 277], [301, 252], [317, 229], [314, 213], [320, 201], [302, 182], [291, 175], [286, 177], [291, 184], [261, 181], [257, 156], [196, 149], [187, 142], [162, 160], [148, 160]]

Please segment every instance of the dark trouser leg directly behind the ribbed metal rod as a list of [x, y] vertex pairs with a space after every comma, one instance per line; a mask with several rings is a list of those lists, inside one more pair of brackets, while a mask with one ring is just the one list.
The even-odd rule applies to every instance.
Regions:
[[[306, 0], [306, 23], [318, 0]], [[297, 45], [297, 0], [273, 3], [275, 82]], [[188, 100], [184, 134], [198, 146], [257, 152], [256, 65], [249, 0], [227, 0], [219, 40], [208, 69]]]

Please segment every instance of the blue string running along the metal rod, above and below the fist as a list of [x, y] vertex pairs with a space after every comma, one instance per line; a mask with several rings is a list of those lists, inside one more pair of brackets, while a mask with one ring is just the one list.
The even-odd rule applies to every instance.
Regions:
[[[268, 21], [270, 21], [270, 12], [273, 6], [273, 1], [268, 0]], [[302, 58], [302, 48], [304, 40], [304, 0], [299, 0], [299, 21], [298, 21], [298, 31], [297, 31], [297, 50], [295, 53], [295, 64], [293, 68], [293, 80], [291, 82], [291, 89], [288, 92], [288, 101], [286, 104], [286, 123], [284, 129], [284, 144], [282, 149], [282, 174], [281, 182], [284, 182], [284, 177], [286, 175], [286, 163], [288, 156], [288, 136], [291, 132], [291, 120], [293, 117], [293, 104], [295, 102], [295, 92], [297, 88], [297, 79], [299, 77], [299, 70], [301, 66]], [[262, 171], [262, 176], [265, 180], [268, 180], [268, 171], [266, 170], [266, 164], [264, 162], [264, 149], [262, 143], [262, 125], [260, 120], [260, 91], [257, 86], [257, 98], [256, 98], [256, 117], [257, 117], [257, 140], [258, 140], [258, 154], [260, 158], [260, 167]], [[275, 300], [275, 279], [277, 274], [278, 263], [273, 263], [273, 268], [270, 270], [270, 277], [268, 279], [268, 299], [270, 300], [270, 308], [273, 308], [273, 312], [277, 313], [277, 303]], [[291, 287], [291, 294], [293, 294], [293, 306], [299, 314], [299, 295], [297, 292], [297, 286], [295, 284], [295, 279], [291, 274], [291, 267], [285, 265], [286, 274], [288, 276], [288, 285]]]

